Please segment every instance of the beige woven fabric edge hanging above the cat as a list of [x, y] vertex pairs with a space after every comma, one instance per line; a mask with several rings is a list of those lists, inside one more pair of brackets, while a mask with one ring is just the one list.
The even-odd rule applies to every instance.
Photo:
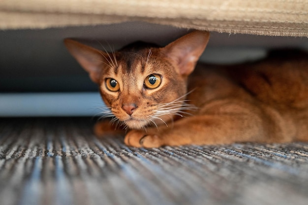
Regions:
[[184, 28], [308, 36], [308, 0], [1, 0], [0, 29], [146, 21]]

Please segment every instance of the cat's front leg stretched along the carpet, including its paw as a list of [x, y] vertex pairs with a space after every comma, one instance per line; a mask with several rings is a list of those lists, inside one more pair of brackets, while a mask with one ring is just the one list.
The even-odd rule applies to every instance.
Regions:
[[126, 134], [124, 142], [129, 146], [148, 148], [164, 145], [271, 142], [269, 133], [275, 132], [274, 129], [275, 125], [271, 125], [270, 121], [252, 113], [199, 115], [178, 120], [170, 127], [160, 126], [147, 131], [131, 130]]

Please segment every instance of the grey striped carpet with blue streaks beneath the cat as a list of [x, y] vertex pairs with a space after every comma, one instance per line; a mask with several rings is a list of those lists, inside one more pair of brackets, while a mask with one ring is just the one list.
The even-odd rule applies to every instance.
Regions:
[[0, 205], [308, 204], [308, 143], [135, 149], [94, 122], [0, 119]]

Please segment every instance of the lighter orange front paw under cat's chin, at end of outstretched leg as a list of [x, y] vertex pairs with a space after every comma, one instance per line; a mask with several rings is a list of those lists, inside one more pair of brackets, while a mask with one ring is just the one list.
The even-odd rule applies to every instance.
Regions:
[[132, 147], [156, 148], [163, 145], [163, 141], [158, 134], [147, 133], [142, 130], [129, 131], [124, 138], [124, 142]]

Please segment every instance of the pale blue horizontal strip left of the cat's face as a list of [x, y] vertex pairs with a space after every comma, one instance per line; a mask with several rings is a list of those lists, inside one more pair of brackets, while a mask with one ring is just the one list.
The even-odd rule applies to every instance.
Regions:
[[0, 93], [0, 117], [99, 116], [102, 105], [97, 92]]

